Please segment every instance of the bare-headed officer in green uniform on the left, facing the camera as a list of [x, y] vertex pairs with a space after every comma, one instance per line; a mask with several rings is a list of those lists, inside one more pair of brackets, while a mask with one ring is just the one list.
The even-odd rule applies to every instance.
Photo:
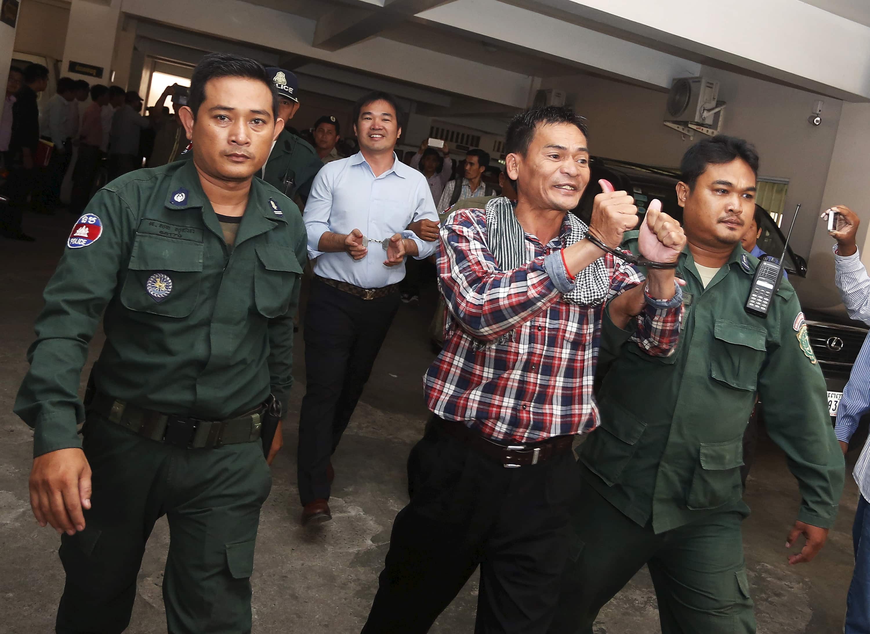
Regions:
[[[180, 112], [193, 160], [97, 192], [45, 289], [15, 411], [34, 428], [34, 515], [62, 534], [61, 634], [124, 631], [164, 515], [168, 630], [251, 631], [260, 430], [290, 393], [305, 264], [298, 209], [252, 178], [283, 124], [276, 100], [257, 62], [204, 57]], [[280, 444], [278, 429], [270, 460]]]

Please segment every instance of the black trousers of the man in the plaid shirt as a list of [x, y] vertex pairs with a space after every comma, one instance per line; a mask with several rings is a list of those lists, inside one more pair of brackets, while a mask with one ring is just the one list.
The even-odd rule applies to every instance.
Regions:
[[477, 634], [547, 631], [579, 549], [572, 452], [506, 469], [434, 417], [408, 458], [408, 486], [363, 634], [429, 631], [478, 565]]

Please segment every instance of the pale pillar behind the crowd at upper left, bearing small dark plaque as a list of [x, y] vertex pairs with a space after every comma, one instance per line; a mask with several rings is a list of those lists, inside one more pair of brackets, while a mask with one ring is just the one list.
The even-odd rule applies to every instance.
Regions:
[[[89, 84], [111, 84], [111, 64], [120, 16], [121, 0], [111, 0], [108, 4], [72, 0], [61, 77], [85, 79]], [[102, 68], [103, 77], [70, 72], [70, 62]]]

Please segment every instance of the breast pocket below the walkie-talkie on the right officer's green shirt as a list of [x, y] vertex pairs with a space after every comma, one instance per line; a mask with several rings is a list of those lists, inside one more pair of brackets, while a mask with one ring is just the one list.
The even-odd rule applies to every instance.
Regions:
[[766, 330], [716, 320], [710, 351], [710, 376], [730, 388], [755, 391], [766, 354]]

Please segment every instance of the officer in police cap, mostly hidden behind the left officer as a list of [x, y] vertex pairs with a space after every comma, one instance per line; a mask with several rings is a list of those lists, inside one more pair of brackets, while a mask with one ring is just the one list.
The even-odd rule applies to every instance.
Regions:
[[[269, 67], [266, 72], [271, 76], [272, 86], [278, 93], [278, 117], [284, 119], [285, 125], [289, 125], [286, 122], [299, 109], [298, 79], [291, 71], [281, 68]], [[291, 198], [298, 193], [299, 198], [305, 201], [311, 192], [314, 177], [323, 166], [317, 150], [311, 144], [284, 130], [275, 140], [261, 177]]]

